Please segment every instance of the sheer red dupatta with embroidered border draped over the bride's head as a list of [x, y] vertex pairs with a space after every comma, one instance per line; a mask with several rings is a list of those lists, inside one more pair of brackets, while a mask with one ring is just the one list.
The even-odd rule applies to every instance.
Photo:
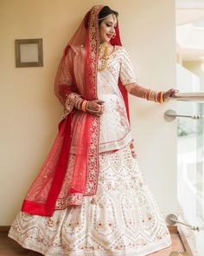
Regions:
[[[99, 11], [93, 6], [67, 44], [57, 71], [54, 92], [65, 108], [59, 132], [46, 161], [29, 188], [22, 212], [52, 216], [54, 210], [81, 205], [96, 194], [99, 174], [99, 117], [74, 108], [81, 96], [96, 100], [99, 53]], [[121, 45], [118, 25], [112, 45]], [[127, 92], [121, 82], [127, 114]]]

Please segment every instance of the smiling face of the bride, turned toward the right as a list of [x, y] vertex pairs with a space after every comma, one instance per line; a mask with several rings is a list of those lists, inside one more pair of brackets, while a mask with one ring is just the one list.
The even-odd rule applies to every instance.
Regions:
[[100, 43], [110, 42], [115, 34], [117, 26], [117, 18], [114, 14], [110, 14], [99, 24], [99, 41]]

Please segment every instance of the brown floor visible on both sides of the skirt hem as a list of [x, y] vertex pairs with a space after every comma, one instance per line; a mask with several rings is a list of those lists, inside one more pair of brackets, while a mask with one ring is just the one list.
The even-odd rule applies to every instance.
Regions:
[[[163, 249], [160, 252], [152, 253], [151, 256], [169, 256], [173, 251], [184, 252], [182, 242], [178, 234], [171, 234], [172, 246], [167, 249]], [[14, 240], [7, 237], [7, 233], [0, 233], [0, 256], [13, 256], [13, 255], [29, 255], [40, 256], [41, 253], [35, 253], [19, 246]], [[150, 256], [149, 255], [149, 256]]]

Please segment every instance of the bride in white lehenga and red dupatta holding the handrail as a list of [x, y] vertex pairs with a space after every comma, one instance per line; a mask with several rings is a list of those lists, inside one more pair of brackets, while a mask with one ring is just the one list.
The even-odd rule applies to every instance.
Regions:
[[48, 256], [142, 256], [171, 244], [137, 165], [127, 92], [161, 103], [175, 89], [137, 84], [118, 12], [93, 6], [62, 56], [55, 94], [63, 120], [10, 238]]

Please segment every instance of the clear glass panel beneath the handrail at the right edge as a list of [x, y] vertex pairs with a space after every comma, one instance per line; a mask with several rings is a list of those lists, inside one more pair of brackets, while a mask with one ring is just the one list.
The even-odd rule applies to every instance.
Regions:
[[199, 115], [199, 119], [177, 119], [177, 199], [178, 215], [194, 230], [179, 225], [192, 255], [204, 255], [204, 102], [177, 102], [179, 115]]

